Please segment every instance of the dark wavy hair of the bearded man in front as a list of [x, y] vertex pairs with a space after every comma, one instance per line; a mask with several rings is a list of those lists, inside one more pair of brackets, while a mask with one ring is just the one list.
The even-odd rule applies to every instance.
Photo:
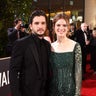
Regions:
[[32, 12], [30, 18], [29, 18], [29, 24], [33, 22], [34, 17], [36, 16], [44, 16], [47, 22], [47, 16], [46, 13], [43, 10], [35, 10]]

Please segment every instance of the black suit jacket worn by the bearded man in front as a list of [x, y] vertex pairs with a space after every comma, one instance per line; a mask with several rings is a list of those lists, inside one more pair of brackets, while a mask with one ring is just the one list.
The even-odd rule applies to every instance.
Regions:
[[[49, 57], [50, 44], [44, 40]], [[10, 61], [10, 87], [13, 96], [47, 96], [47, 58], [45, 77], [41, 76], [38, 51], [34, 43], [34, 35], [22, 38], [14, 44]]]

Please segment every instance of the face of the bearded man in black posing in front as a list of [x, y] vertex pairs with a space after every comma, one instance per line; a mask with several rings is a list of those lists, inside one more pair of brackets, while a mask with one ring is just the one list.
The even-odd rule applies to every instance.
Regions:
[[30, 24], [30, 29], [33, 33], [38, 36], [43, 36], [46, 31], [46, 19], [44, 16], [36, 16], [33, 18], [32, 24]]

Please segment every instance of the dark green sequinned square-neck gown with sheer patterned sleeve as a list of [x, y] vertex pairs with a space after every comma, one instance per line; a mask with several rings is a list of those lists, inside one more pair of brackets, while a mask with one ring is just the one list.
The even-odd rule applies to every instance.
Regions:
[[81, 48], [78, 43], [72, 52], [51, 52], [49, 96], [80, 96], [81, 59]]

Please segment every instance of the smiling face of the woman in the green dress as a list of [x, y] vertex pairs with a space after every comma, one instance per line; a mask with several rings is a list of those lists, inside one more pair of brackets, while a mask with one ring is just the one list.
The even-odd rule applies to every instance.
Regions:
[[54, 26], [54, 31], [57, 36], [66, 36], [68, 32], [68, 25], [64, 19], [59, 19]]

